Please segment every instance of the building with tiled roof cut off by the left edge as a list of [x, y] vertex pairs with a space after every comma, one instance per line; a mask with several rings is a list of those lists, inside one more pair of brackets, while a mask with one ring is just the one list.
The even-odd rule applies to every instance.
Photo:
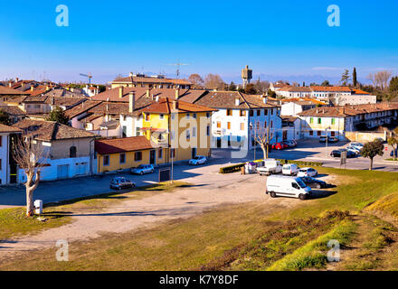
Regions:
[[13, 142], [21, 130], [0, 124], [0, 185], [16, 182], [16, 164], [13, 159]]

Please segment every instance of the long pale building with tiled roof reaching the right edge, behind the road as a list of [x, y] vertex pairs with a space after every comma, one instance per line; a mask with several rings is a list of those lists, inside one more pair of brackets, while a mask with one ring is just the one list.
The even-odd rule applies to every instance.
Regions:
[[299, 113], [303, 137], [320, 135], [346, 139], [346, 132], [366, 131], [397, 120], [398, 105], [380, 103], [345, 107], [318, 107]]

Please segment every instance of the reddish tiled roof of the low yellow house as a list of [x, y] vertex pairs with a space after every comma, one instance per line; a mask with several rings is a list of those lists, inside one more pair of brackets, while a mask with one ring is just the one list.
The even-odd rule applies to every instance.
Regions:
[[133, 136], [99, 140], [95, 142], [95, 151], [98, 154], [118, 154], [151, 149], [151, 142], [145, 136]]

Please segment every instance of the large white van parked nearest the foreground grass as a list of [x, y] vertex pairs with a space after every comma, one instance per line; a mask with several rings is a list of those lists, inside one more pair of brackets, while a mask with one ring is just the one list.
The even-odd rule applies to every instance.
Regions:
[[284, 175], [270, 175], [267, 179], [267, 194], [306, 200], [311, 195], [309, 188], [300, 178]]

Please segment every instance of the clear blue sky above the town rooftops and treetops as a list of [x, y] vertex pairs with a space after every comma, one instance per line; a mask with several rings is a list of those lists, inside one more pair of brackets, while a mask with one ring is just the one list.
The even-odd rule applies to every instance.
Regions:
[[[55, 24], [57, 5], [70, 26]], [[327, 26], [339, 5], [341, 26]], [[239, 79], [248, 64], [261, 79], [339, 78], [355, 66], [398, 72], [398, 1], [77, 1], [2, 3], [0, 79], [106, 82], [129, 71], [209, 72]]]

